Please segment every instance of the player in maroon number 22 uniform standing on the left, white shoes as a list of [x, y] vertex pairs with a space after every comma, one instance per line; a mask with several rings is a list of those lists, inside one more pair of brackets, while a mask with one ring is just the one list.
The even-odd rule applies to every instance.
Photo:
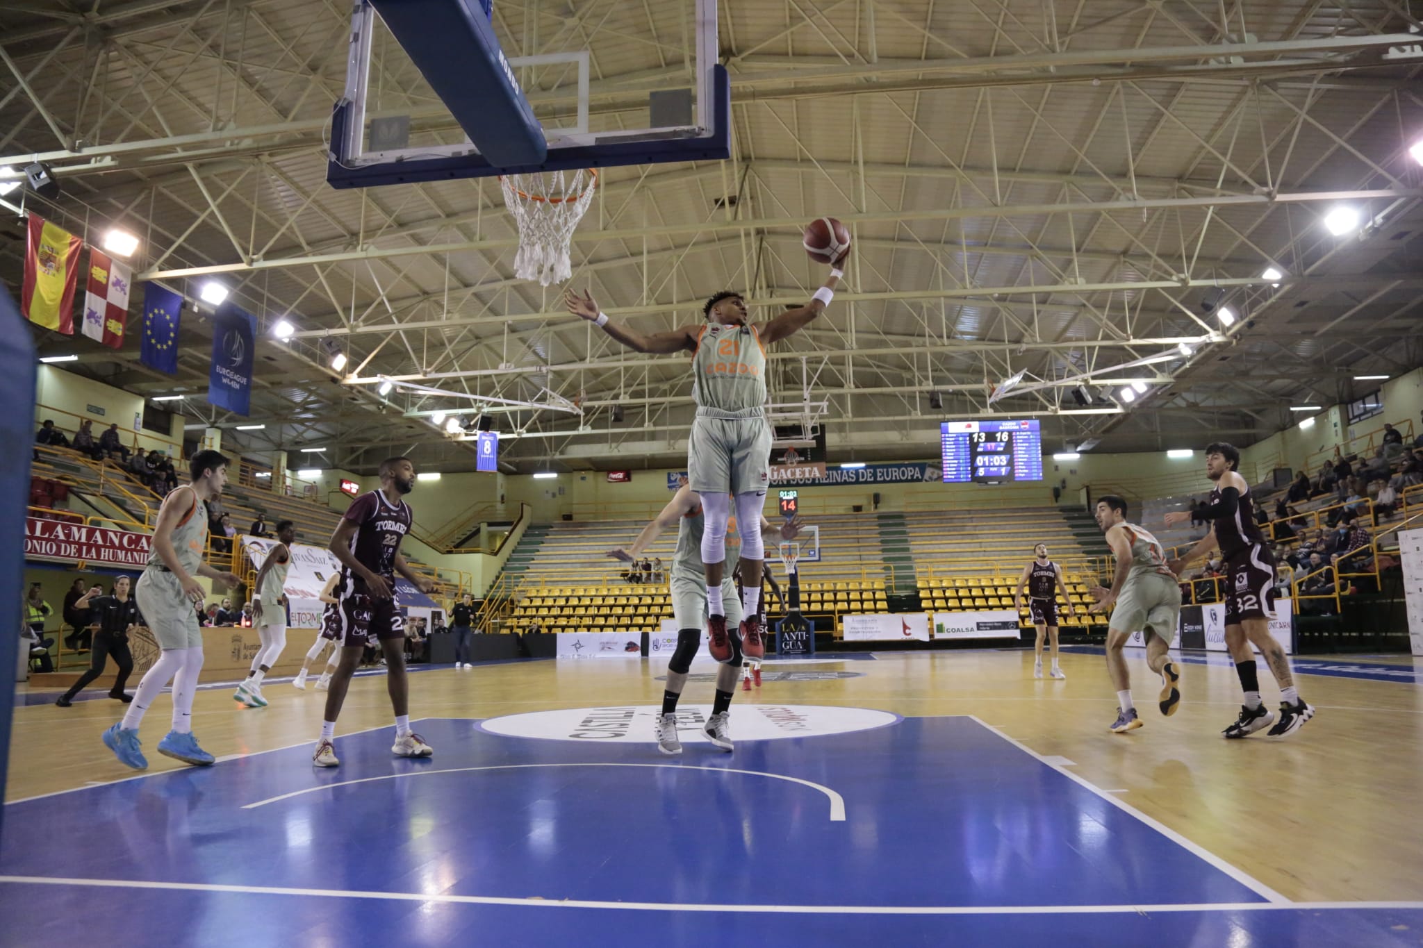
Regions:
[[374, 637], [386, 655], [386, 688], [396, 712], [397, 758], [428, 758], [434, 749], [410, 729], [406, 681], [406, 623], [396, 604], [396, 573], [410, 580], [421, 593], [434, 583], [410, 569], [400, 556], [400, 540], [410, 533], [414, 515], [404, 495], [416, 488], [416, 468], [410, 458], [388, 458], [380, 463], [380, 490], [359, 496], [346, 510], [332, 534], [330, 551], [342, 561], [340, 578], [322, 617], [322, 635], [340, 647], [342, 659], [326, 692], [326, 719], [322, 739], [316, 742], [312, 762], [334, 767], [336, 718], [346, 701], [366, 641]]

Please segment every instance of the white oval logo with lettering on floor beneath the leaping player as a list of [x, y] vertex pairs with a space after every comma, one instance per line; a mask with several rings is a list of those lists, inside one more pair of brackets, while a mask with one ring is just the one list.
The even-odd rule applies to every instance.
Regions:
[[[565, 708], [532, 711], [522, 715], [490, 718], [480, 726], [505, 738], [541, 740], [578, 740], [583, 743], [655, 743], [653, 723], [662, 715], [656, 705], [616, 705], [606, 708]], [[683, 743], [706, 742], [710, 705], [677, 708], [677, 736]], [[899, 715], [871, 708], [831, 708], [821, 705], [741, 705], [731, 708], [731, 739], [777, 740], [781, 738], [821, 738], [854, 731], [871, 731], [898, 723]]]

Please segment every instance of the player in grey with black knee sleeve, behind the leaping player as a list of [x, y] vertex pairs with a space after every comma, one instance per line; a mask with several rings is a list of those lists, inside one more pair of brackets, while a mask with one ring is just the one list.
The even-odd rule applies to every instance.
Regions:
[[[760, 523], [760, 530], [756, 533], [780, 536], [787, 542], [795, 539], [801, 526], [798, 520], [790, 520], [777, 532], [766, 517], [758, 516], [756, 522]], [[672, 527], [677, 527], [677, 551], [672, 561], [669, 580], [672, 611], [677, 620], [677, 648], [672, 652], [672, 661], [667, 662], [667, 688], [662, 695], [662, 713], [657, 716], [656, 725], [657, 750], [662, 753], [682, 753], [682, 742], [677, 740], [677, 699], [682, 696], [682, 688], [687, 684], [687, 671], [702, 645], [702, 630], [706, 628], [709, 590], [706, 574], [702, 571], [702, 537], [706, 530], [702, 499], [693, 493], [689, 485], [683, 483], [657, 515], [657, 519], [642, 529], [632, 546], [608, 551], [608, 556], [615, 560], [632, 563], [662, 536], [663, 530]], [[743, 530], [743, 547], [746, 536], [747, 533]], [[719, 591], [726, 597], [727, 618], [730, 621], [740, 620], [740, 603], [730, 571], [721, 577]], [[733, 654], [730, 661], [723, 662], [721, 668], [717, 669], [716, 698], [712, 702], [712, 716], [704, 728], [707, 739], [723, 750], [733, 749], [729, 718], [731, 695], [736, 694], [737, 669], [741, 667], [739, 645], [737, 637], [730, 637]]]

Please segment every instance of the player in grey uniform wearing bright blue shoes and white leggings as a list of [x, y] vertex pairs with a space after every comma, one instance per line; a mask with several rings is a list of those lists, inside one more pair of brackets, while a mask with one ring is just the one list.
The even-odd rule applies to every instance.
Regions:
[[135, 770], [148, 767], [138, 742], [138, 725], [169, 679], [174, 682], [174, 722], [168, 736], [158, 742], [158, 753], [194, 765], [213, 760], [192, 736], [192, 698], [202, 671], [202, 630], [194, 604], [206, 597], [199, 576], [229, 588], [236, 588], [240, 580], [202, 561], [208, 547], [208, 502], [221, 496], [228, 483], [228, 459], [216, 451], [199, 451], [188, 468], [192, 482], [171, 492], [158, 509], [148, 567], [134, 588], [138, 611], [162, 651], [138, 682], [124, 719], [104, 732], [104, 745]]

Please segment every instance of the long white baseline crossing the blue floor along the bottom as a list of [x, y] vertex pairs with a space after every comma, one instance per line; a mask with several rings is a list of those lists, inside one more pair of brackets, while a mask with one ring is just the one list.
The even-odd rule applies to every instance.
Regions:
[[612, 908], [657, 912], [733, 912], [766, 915], [1093, 915], [1144, 912], [1242, 912], [1242, 911], [1423, 911], [1423, 903], [1197, 903], [1165, 905], [709, 905], [699, 903], [603, 903], [581, 898], [508, 898], [499, 895], [450, 895], [437, 893], [374, 893], [339, 888], [285, 888], [279, 885], [223, 885], [216, 883], [154, 883], [134, 878], [63, 878], [0, 876], [0, 884], [88, 885], [97, 888], [157, 888], [186, 893], [236, 893], [250, 895], [300, 895], [370, 898], [404, 903], [467, 905], [522, 905], [525, 908]]

